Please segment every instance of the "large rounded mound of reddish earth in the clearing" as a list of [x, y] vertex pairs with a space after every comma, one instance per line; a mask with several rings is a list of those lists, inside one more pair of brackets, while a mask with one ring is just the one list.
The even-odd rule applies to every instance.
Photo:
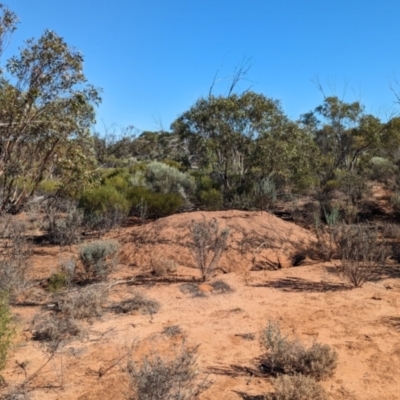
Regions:
[[[172, 215], [129, 230], [121, 261], [142, 270], [164, 263], [181, 273], [196, 268], [190, 225], [215, 220], [229, 229], [227, 249], [218, 267], [223, 272], [275, 270], [299, 265], [315, 247], [315, 236], [267, 212], [217, 211]], [[171, 267], [172, 268], [172, 267]], [[175, 271], [170, 271], [175, 272]]]

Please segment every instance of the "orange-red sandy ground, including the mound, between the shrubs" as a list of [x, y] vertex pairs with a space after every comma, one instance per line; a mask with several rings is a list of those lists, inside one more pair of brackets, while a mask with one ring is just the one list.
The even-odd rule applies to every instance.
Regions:
[[[201, 285], [188, 247], [189, 226], [203, 218], [215, 218], [221, 228], [230, 229], [227, 252], [207, 285], [222, 280], [232, 292], [221, 294], [207, 285], [201, 286], [202, 295], [189, 290]], [[133, 285], [113, 286], [108, 304], [139, 292], [157, 300], [161, 309], [152, 316], [108, 309], [101, 318], [85, 322], [87, 335], [65, 344], [30, 382], [32, 399], [126, 399], [124, 369], [130, 349], [133, 360], [140, 360], [149, 352], [176, 351], [183, 340], [200, 345], [201, 372], [214, 382], [201, 400], [240, 400], [271, 392], [270, 378], [257, 373], [262, 354], [259, 333], [268, 320], [277, 321], [292, 339], [336, 349], [335, 375], [322, 382], [330, 398], [400, 399], [398, 267], [376, 283], [351, 289], [333, 263], [312, 259], [312, 233], [265, 212], [179, 214], [119, 229], [109, 237], [120, 242], [121, 252], [120, 264], [108, 280], [128, 279]], [[36, 247], [32, 278], [47, 278], [56, 270], [60, 254], [68, 253], [56, 246]], [[296, 254], [306, 258], [292, 267]], [[167, 276], [153, 276], [154, 258], [173, 260], [177, 268]], [[39, 286], [26, 297], [49, 301]], [[25, 305], [13, 307], [13, 312], [19, 334], [3, 373], [9, 385], [23, 382], [49, 357], [39, 342], [31, 340], [34, 317], [46, 309]], [[181, 333], [163, 333], [171, 325], [179, 325]]]

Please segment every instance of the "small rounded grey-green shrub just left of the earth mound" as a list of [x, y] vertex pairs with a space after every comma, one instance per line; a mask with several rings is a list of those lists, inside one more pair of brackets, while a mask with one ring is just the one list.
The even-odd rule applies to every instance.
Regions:
[[84, 279], [105, 279], [117, 263], [117, 251], [115, 240], [98, 240], [81, 246], [79, 259], [84, 268]]

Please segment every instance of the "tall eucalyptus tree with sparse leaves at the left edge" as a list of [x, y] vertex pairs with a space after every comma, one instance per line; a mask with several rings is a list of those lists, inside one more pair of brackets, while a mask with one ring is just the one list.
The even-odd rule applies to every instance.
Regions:
[[[0, 10], [1, 44], [16, 18], [5, 6]], [[18, 212], [54, 174], [60, 190], [72, 193], [89, 181], [94, 167], [90, 127], [100, 96], [82, 69], [82, 54], [50, 30], [27, 40], [2, 68], [0, 212]]]

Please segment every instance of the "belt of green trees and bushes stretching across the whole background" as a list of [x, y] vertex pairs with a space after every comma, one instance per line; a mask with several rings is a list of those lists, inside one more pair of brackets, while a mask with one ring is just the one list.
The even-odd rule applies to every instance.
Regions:
[[[0, 4], [0, 56], [17, 23]], [[236, 70], [225, 96], [213, 83], [168, 132], [102, 136], [91, 131], [101, 97], [82, 54], [52, 31], [28, 40], [0, 68], [0, 214], [37, 193], [157, 217], [193, 205], [265, 208], [304, 193], [328, 207], [337, 191], [356, 206], [370, 180], [397, 190], [399, 117], [382, 122], [358, 101], [324, 96], [293, 121], [278, 100], [236, 93], [247, 71]]]

